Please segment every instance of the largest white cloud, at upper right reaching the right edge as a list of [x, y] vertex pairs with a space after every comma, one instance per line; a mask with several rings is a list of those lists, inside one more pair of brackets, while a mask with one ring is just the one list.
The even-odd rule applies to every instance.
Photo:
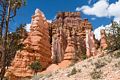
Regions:
[[120, 0], [109, 4], [109, 0], [98, 0], [90, 6], [77, 7], [76, 11], [82, 11], [86, 15], [95, 15], [96, 17], [114, 17], [115, 21], [120, 21]]

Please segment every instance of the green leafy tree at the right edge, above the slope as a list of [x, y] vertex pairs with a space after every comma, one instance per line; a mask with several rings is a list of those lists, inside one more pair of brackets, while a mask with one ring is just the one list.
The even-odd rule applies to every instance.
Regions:
[[117, 22], [112, 22], [112, 25], [106, 29], [107, 31], [107, 41], [108, 50], [115, 51], [120, 49], [120, 24]]

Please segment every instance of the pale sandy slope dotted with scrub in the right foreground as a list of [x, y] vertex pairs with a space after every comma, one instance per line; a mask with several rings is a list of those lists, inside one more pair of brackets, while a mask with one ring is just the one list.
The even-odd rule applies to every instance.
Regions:
[[32, 80], [120, 80], [120, 50], [91, 57]]

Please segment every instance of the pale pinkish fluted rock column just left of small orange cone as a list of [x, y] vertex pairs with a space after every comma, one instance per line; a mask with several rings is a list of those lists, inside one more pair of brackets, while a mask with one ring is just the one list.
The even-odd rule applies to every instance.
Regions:
[[52, 60], [53, 63], [59, 63], [63, 60], [66, 49], [66, 36], [62, 29], [58, 29], [57, 34], [53, 36], [52, 40]]

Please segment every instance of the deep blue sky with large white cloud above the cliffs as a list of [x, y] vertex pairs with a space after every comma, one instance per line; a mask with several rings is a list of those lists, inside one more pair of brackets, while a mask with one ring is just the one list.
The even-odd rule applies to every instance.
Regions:
[[36, 8], [48, 20], [54, 19], [59, 11], [80, 11], [81, 17], [88, 18], [93, 28], [97, 29], [109, 25], [111, 20], [120, 20], [119, 5], [120, 0], [27, 0], [26, 6], [19, 9], [14, 21], [10, 22], [10, 31], [14, 31], [19, 24], [29, 24]]

